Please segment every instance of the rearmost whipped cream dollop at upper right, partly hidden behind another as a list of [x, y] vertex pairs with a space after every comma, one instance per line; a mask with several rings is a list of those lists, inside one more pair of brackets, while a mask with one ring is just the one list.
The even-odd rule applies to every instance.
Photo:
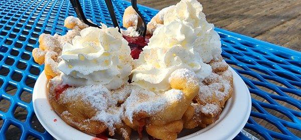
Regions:
[[194, 50], [200, 54], [204, 62], [208, 63], [220, 56], [221, 41], [214, 30], [214, 25], [206, 21], [202, 10], [203, 6], [197, 0], [181, 0], [165, 12], [164, 24], [169, 24], [176, 19], [192, 23], [197, 35]]

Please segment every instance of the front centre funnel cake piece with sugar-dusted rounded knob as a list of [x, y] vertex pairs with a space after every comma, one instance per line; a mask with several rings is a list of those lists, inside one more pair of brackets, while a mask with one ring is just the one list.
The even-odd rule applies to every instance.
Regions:
[[198, 78], [186, 68], [175, 70], [170, 78], [170, 90], [156, 93], [135, 86], [124, 102], [124, 122], [134, 130], [159, 139], [176, 139], [183, 128], [182, 116], [199, 91]]

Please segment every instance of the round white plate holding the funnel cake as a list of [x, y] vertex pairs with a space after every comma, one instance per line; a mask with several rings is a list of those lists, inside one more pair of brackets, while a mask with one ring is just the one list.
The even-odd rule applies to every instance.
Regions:
[[[223, 108], [220, 118], [203, 129], [185, 129], [179, 134], [183, 137], [178, 139], [232, 139], [241, 131], [250, 115], [251, 96], [241, 77], [232, 68], [231, 71], [234, 93]], [[56, 139], [93, 139], [93, 136], [65, 123], [51, 108], [47, 96], [47, 83], [43, 71], [36, 81], [33, 92], [34, 110], [44, 128]]]

